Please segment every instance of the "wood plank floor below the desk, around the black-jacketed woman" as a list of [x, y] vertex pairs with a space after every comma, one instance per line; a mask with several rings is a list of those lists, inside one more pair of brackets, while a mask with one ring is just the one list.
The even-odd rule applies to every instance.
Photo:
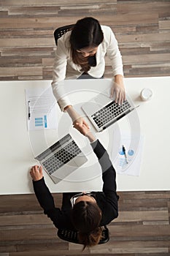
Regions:
[[[61, 206], [61, 194], [53, 194]], [[119, 192], [119, 217], [107, 244], [81, 252], [62, 241], [34, 195], [0, 196], [0, 256], [170, 255], [170, 192]]]

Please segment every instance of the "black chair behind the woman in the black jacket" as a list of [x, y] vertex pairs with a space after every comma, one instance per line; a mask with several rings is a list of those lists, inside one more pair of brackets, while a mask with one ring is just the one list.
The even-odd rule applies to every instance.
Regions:
[[[61, 238], [62, 240], [65, 240], [74, 244], [80, 244], [77, 238], [78, 237], [77, 231], [59, 229], [57, 234], [58, 234], [58, 237]], [[104, 229], [102, 230], [102, 238], [98, 244], [105, 244], [108, 241], [109, 241], [109, 230], [105, 225]]]

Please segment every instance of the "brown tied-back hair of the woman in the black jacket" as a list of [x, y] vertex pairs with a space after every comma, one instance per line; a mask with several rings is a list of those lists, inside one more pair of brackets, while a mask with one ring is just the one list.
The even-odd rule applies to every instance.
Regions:
[[80, 201], [72, 209], [72, 222], [78, 231], [80, 244], [94, 246], [98, 244], [102, 236], [101, 227], [101, 209], [97, 203]]

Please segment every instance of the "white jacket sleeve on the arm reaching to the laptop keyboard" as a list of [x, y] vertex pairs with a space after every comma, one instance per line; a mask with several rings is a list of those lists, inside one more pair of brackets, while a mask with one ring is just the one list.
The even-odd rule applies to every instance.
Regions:
[[112, 64], [113, 75], [123, 75], [123, 61], [117, 45], [117, 39], [115, 38], [115, 34], [113, 34], [112, 29], [109, 27], [107, 27], [107, 29], [109, 32], [109, 37], [107, 37], [107, 56]]

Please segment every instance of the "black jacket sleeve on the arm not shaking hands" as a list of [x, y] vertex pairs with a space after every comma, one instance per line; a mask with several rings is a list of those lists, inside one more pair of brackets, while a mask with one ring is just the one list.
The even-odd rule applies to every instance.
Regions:
[[60, 208], [55, 208], [53, 195], [51, 195], [50, 190], [45, 184], [45, 179], [42, 178], [39, 181], [33, 181], [34, 192], [37, 200], [39, 201], [40, 206], [44, 209], [44, 213], [47, 214], [52, 221], [55, 227], [63, 228], [72, 228], [72, 224], [69, 218], [69, 212], [61, 211]]

